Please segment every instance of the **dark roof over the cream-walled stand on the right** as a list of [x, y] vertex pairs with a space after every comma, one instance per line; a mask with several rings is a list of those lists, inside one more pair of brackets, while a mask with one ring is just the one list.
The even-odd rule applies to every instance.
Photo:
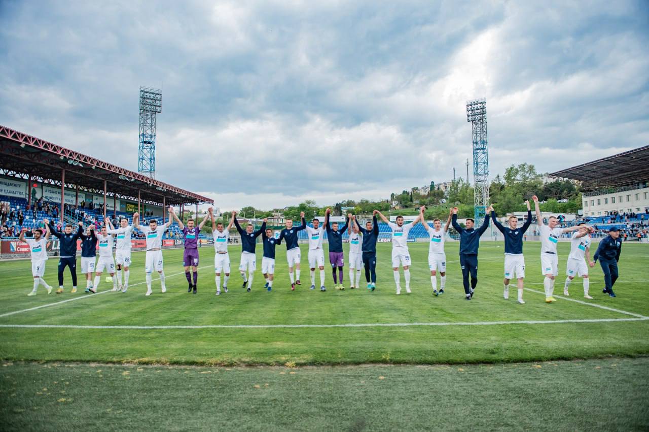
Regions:
[[585, 192], [643, 183], [649, 180], [649, 146], [550, 173], [550, 177], [578, 181]]

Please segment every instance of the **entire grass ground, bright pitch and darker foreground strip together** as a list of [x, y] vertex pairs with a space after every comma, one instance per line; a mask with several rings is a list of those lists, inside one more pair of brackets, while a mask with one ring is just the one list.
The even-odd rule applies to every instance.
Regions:
[[[246, 292], [240, 248], [230, 246], [233, 272], [221, 296], [214, 295], [212, 247], [200, 251], [196, 295], [187, 292], [182, 249], [164, 251], [167, 292], [154, 281], [150, 297], [141, 252], [132, 255], [126, 294], [104, 281], [97, 294], [84, 294], [82, 278], [71, 294], [66, 273], [64, 294], [39, 288], [27, 297], [29, 260], [0, 263], [5, 429], [143, 429], [151, 422], [176, 430], [210, 429], [209, 422], [247, 430], [649, 425], [648, 245], [624, 244], [615, 299], [602, 294], [602, 272], [592, 268], [594, 299], [587, 300], [581, 279], [569, 297], [562, 294], [570, 245], [559, 243], [557, 301], [546, 304], [540, 244], [528, 242], [525, 305], [516, 302], [513, 284], [510, 298], [502, 298], [501, 242], [482, 242], [471, 301], [464, 299], [456, 242], [446, 245], [447, 286], [438, 297], [425, 242], [410, 244], [412, 294], [400, 296], [390, 244], [378, 244], [374, 292], [334, 290], [329, 266], [328, 290], [309, 290], [301, 247], [295, 292], [283, 248], [273, 291], [263, 288], [258, 248]], [[57, 262], [51, 258], [45, 273], [54, 286]], [[349, 287], [348, 279], [346, 267]], [[167, 406], [180, 417], [164, 420]]]

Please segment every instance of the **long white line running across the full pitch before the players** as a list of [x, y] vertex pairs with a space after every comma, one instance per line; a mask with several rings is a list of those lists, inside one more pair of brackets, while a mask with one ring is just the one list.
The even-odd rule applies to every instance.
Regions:
[[66, 325], [66, 324], [0, 324], [3, 328], [20, 329], [124, 329], [124, 330], [164, 330], [164, 329], [302, 329], [332, 327], [448, 327], [453, 325], [511, 325], [511, 324], [567, 324], [645, 321], [643, 318], [599, 318], [591, 320], [522, 320], [522, 321], [478, 321], [478, 322], [401, 322], [373, 324], [250, 324], [250, 325]]

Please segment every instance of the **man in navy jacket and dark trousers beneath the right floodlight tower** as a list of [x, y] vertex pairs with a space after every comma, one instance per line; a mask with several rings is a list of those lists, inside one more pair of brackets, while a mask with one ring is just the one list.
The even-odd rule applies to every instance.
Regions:
[[[493, 211], [491, 206], [485, 209], [487, 215]], [[475, 229], [475, 221], [467, 218], [466, 228], [458, 224], [458, 207], [453, 208], [453, 218], [451, 220], [455, 231], [459, 233], [459, 266], [462, 269], [462, 283], [467, 300], [473, 298], [473, 292], [478, 285], [478, 248], [480, 247], [480, 236], [482, 236], [487, 227], [489, 227], [489, 216], [485, 216], [482, 226]], [[469, 286], [469, 274], [471, 274], [471, 286]]]

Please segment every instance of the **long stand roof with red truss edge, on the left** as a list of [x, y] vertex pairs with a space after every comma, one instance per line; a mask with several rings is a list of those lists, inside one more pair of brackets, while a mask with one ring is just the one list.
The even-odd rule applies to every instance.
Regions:
[[0, 125], [0, 173], [151, 204], [214, 203], [188, 190]]

